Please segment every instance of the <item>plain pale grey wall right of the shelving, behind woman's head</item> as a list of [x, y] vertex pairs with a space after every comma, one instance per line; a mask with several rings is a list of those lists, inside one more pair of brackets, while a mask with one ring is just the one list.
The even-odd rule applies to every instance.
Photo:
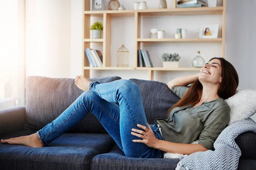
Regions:
[[[256, 89], [256, 1], [227, 0], [226, 59], [236, 68], [239, 87]], [[256, 114], [251, 116], [256, 121]]]

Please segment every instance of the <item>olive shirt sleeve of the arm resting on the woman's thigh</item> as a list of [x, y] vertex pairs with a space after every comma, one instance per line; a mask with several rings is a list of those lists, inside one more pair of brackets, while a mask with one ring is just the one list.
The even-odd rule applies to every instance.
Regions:
[[198, 144], [208, 150], [214, 150], [213, 144], [219, 134], [224, 130], [230, 121], [230, 106], [224, 105], [215, 109], [204, 123], [204, 129], [199, 136]]

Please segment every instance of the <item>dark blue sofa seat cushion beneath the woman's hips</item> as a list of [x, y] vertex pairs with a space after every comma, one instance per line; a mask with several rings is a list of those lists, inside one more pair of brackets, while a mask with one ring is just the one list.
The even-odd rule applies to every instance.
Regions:
[[175, 170], [179, 159], [131, 158], [115, 144], [109, 153], [93, 157], [90, 170]]

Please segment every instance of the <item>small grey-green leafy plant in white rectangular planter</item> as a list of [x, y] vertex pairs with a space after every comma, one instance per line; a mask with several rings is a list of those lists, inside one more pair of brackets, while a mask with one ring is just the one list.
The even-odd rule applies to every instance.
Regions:
[[180, 65], [180, 62], [179, 62], [180, 56], [178, 53], [174, 53], [174, 54], [163, 53], [162, 59], [163, 59], [164, 68], [178, 68]]

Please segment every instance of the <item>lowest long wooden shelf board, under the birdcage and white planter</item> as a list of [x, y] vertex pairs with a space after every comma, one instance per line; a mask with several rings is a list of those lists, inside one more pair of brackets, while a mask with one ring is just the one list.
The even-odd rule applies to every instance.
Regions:
[[84, 70], [146, 70], [146, 71], [200, 71], [201, 68], [163, 68], [163, 67], [84, 67]]

